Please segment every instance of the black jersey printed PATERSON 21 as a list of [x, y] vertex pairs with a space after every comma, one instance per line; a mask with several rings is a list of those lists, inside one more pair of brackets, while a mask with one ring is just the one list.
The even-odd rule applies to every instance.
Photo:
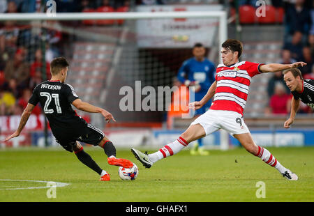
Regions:
[[87, 124], [72, 109], [71, 103], [77, 98], [78, 96], [71, 85], [47, 80], [33, 89], [29, 103], [36, 106], [40, 102], [52, 132], [55, 128], [75, 130], [75, 128]]

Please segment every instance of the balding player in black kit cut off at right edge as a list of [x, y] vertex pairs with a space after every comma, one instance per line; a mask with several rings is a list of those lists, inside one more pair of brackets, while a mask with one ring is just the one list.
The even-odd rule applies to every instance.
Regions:
[[283, 79], [293, 95], [290, 118], [283, 124], [284, 128], [290, 128], [299, 109], [300, 101], [314, 109], [314, 80], [303, 79], [301, 71], [297, 68], [283, 71]]

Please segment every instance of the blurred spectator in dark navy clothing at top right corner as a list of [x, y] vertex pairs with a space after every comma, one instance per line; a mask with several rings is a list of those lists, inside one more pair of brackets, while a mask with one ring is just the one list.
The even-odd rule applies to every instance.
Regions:
[[304, 36], [308, 34], [311, 27], [310, 10], [304, 6], [304, 0], [295, 0], [295, 3], [287, 6], [285, 10], [285, 27], [287, 40], [293, 36], [296, 31]]

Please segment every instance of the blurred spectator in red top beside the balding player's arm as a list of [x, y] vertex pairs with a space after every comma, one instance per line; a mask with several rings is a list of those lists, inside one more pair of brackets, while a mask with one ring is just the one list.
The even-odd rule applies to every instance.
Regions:
[[285, 91], [285, 86], [277, 83], [275, 93], [269, 100], [269, 107], [266, 109], [266, 114], [287, 114], [290, 111], [291, 95]]

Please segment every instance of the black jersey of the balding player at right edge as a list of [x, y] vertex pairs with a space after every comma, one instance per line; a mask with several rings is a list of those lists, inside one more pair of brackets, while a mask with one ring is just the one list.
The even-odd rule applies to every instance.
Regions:
[[295, 100], [301, 100], [306, 105], [314, 109], [314, 80], [304, 79], [303, 90], [301, 93], [297, 91], [291, 92]]

